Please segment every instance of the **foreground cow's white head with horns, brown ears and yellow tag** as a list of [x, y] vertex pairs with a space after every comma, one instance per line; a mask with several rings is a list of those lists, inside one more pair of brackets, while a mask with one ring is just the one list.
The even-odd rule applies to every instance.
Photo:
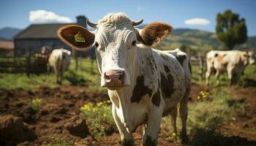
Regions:
[[172, 28], [165, 23], [149, 23], [142, 30], [134, 26], [143, 23], [129, 20], [122, 12], [110, 13], [97, 24], [87, 21], [96, 28], [89, 31], [82, 26], [69, 25], [59, 28], [62, 41], [77, 49], [96, 47], [97, 62], [101, 73], [101, 85], [116, 90], [130, 84], [135, 72], [138, 43], [153, 46], [167, 37]]

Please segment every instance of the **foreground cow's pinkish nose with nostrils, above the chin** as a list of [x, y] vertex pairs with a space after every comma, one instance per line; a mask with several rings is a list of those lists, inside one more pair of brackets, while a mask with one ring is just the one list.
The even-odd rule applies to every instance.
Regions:
[[104, 78], [107, 84], [120, 85], [124, 80], [124, 71], [108, 70], [105, 72]]

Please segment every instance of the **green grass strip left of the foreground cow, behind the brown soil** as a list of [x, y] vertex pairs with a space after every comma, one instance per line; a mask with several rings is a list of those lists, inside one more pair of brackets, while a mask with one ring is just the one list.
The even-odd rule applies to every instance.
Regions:
[[[89, 85], [92, 91], [102, 92], [105, 88], [100, 87], [100, 78], [96, 61], [91, 72], [91, 61], [88, 58], [78, 58], [78, 71], [75, 70], [75, 60], [72, 59], [69, 69], [64, 73], [63, 85]], [[7, 74], [0, 73], [0, 88], [7, 90], [23, 88], [25, 90], [33, 90], [40, 86], [48, 86], [56, 88], [55, 74], [31, 74], [30, 77], [26, 73]]]

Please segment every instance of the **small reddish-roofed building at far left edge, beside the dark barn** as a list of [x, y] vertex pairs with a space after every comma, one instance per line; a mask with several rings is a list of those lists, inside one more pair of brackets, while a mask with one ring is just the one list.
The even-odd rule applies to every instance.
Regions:
[[12, 40], [0, 39], [0, 55], [8, 56], [12, 55], [14, 50], [14, 44]]

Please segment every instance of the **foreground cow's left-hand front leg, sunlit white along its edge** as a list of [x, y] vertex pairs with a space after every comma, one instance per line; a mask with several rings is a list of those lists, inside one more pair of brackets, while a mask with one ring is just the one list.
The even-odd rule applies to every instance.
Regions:
[[116, 126], [118, 128], [119, 134], [121, 136], [121, 145], [123, 146], [133, 146], [135, 145], [135, 141], [133, 139], [132, 133], [128, 133], [127, 129], [121, 123], [120, 119], [116, 115], [116, 107], [112, 105], [112, 115], [113, 119], [115, 120]]

